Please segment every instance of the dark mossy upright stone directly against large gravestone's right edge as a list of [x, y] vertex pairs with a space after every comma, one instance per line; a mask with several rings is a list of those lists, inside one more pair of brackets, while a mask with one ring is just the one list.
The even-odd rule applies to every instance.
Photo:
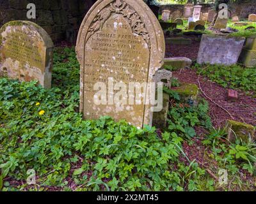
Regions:
[[153, 113], [153, 122], [152, 126], [155, 126], [158, 129], [166, 128], [167, 118], [168, 118], [168, 110], [169, 110], [169, 101], [170, 96], [169, 94], [163, 94], [163, 109], [161, 112], [154, 112]]

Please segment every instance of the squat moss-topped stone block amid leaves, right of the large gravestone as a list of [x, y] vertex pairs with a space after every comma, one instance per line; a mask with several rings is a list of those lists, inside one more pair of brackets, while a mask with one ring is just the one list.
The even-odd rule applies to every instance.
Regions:
[[180, 87], [173, 88], [180, 96], [182, 103], [188, 103], [189, 105], [198, 104], [199, 88], [195, 84], [181, 84]]

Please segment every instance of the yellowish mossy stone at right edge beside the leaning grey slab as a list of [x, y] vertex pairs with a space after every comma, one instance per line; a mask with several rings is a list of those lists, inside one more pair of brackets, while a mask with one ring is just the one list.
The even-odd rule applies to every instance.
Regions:
[[238, 61], [249, 68], [256, 66], [256, 37], [246, 39]]

